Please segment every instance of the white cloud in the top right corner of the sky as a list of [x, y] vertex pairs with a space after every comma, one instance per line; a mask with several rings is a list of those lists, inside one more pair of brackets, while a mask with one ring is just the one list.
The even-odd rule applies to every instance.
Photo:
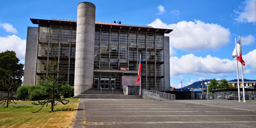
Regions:
[[[255, 23], [255, 0], [246, 0], [239, 6], [238, 9], [234, 10], [236, 15], [235, 20], [242, 23]], [[241, 10], [241, 11], [240, 11]]]

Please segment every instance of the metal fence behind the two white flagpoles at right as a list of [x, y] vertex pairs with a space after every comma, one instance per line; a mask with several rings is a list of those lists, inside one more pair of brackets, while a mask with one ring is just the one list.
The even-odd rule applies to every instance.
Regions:
[[[243, 92], [240, 92], [240, 99], [243, 100]], [[220, 100], [238, 100], [237, 91], [228, 91], [228, 92], [215, 92], [215, 99]], [[245, 100], [256, 100], [256, 91], [245, 91]]]

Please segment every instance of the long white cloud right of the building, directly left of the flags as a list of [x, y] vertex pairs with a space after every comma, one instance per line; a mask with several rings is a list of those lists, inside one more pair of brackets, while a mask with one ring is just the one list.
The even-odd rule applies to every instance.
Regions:
[[[227, 68], [228, 67], [228, 68]], [[170, 75], [192, 74], [201, 76], [211, 76], [223, 73], [227, 75], [236, 71], [235, 61], [211, 57], [196, 57], [193, 54], [184, 55], [181, 58], [170, 58]]]

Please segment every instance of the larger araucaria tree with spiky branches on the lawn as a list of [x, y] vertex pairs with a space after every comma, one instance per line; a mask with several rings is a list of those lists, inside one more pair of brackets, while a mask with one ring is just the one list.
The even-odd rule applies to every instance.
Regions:
[[[51, 62], [51, 64], [54, 66], [54, 68], [52, 69], [51, 67], [48, 67], [48, 71], [52, 72], [52, 74], [48, 74], [48, 75], [44, 75], [44, 77], [46, 78], [45, 82], [44, 81], [39, 81], [41, 86], [46, 86], [46, 87], [50, 87], [51, 91], [50, 92], [40, 92], [40, 91], [36, 91], [36, 93], [40, 94], [40, 95], [50, 95], [48, 98], [46, 98], [44, 101], [38, 101], [38, 103], [32, 103], [34, 105], [43, 105], [38, 111], [39, 112], [44, 105], [46, 105], [46, 107], [48, 106], [48, 103], [51, 103], [51, 109], [53, 112], [53, 107], [57, 105], [57, 103], [55, 103], [55, 101], [59, 101], [62, 104], [67, 104], [69, 102], [69, 100], [65, 100], [61, 99], [61, 94], [62, 92], [58, 92], [56, 91], [57, 87], [61, 87], [67, 84], [67, 82], [61, 81], [62, 78], [64, 78], [64, 76], [62, 75], [57, 75], [58, 72], [60, 72], [62, 69], [58, 70], [59, 64], [56, 62], [56, 56], [54, 58], [54, 63]], [[64, 103], [65, 101], [67, 101], [66, 103]], [[33, 112], [35, 113], [35, 112]]]

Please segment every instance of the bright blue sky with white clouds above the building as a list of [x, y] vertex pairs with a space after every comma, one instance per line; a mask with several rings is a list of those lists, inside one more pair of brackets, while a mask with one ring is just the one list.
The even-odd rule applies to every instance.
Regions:
[[[171, 86], [181, 87], [204, 79], [237, 78], [232, 58], [235, 36], [241, 35], [244, 78], [256, 79], [255, 0], [130, 0], [88, 2], [96, 6], [96, 21], [150, 25], [174, 31], [170, 36]], [[35, 19], [76, 20], [80, 0], [2, 1], [0, 52], [14, 50], [25, 61], [27, 27]], [[239, 64], [241, 70], [241, 64]], [[239, 72], [241, 78], [241, 71]]]

